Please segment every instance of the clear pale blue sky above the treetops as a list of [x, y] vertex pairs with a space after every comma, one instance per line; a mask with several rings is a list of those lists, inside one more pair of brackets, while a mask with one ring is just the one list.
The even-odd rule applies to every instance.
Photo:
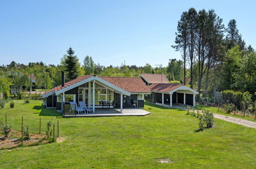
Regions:
[[83, 62], [144, 66], [181, 58], [177, 22], [194, 7], [214, 9], [225, 26], [237, 20], [246, 44], [256, 48], [256, 1], [4, 1], [0, 0], [0, 64], [12, 60], [57, 65], [69, 47]]

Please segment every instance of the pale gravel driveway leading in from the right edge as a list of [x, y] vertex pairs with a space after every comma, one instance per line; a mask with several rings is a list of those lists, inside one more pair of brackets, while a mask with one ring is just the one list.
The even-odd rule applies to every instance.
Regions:
[[[187, 111], [186, 109], [183, 109], [181, 107], [175, 107], [175, 108]], [[200, 111], [200, 112], [202, 112], [202, 111]], [[213, 113], [213, 114], [214, 114], [214, 118], [229, 121], [229, 122], [232, 122], [235, 124], [244, 125], [244, 126], [247, 126], [248, 128], [256, 129], [256, 122], [244, 120], [244, 119], [240, 119], [240, 118], [235, 118], [235, 117], [230, 117], [230, 116], [225, 116], [225, 115], [220, 115], [220, 114], [215, 114], [215, 113]]]

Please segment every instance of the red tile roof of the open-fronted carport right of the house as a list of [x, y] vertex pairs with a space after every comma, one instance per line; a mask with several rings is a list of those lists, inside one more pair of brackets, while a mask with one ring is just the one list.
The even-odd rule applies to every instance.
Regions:
[[148, 86], [150, 91], [157, 91], [157, 92], [170, 92], [174, 89], [177, 89], [183, 84], [171, 84], [171, 83], [152, 83], [152, 85]]

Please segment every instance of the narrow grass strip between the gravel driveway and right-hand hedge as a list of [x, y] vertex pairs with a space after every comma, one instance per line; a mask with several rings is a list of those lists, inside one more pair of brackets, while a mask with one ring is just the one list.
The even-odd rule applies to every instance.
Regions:
[[208, 109], [212, 113], [221, 114], [221, 115], [225, 115], [225, 116], [232, 116], [232, 117], [241, 118], [241, 119], [245, 119], [245, 120], [250, 120], [250, 121], [255, 121], [256, 122], [255, 116], [253, 116], [253, 118], [251, 118], [251, 117], [248, 117], [248, 116], [244, 117], [244, 116], [240, 116], [240, 115], [227, 114], [225, 112], [225, 110], [221, 110], [221, 108], [218, 111], [218, 107], [211, 107], [211, 106], [208, 106], [208, 105], [197, 104], [195, 109], [198, 109], [198, 110]]

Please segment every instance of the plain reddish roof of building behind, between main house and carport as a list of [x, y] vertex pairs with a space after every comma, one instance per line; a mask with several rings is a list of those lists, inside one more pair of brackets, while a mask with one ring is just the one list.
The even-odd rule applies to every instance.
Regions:
[[165, 74], [147, 74], [147, 73], [145, 73], [145, 74], [141, 74], [141, 76], [149, 83], [169, 83]]

